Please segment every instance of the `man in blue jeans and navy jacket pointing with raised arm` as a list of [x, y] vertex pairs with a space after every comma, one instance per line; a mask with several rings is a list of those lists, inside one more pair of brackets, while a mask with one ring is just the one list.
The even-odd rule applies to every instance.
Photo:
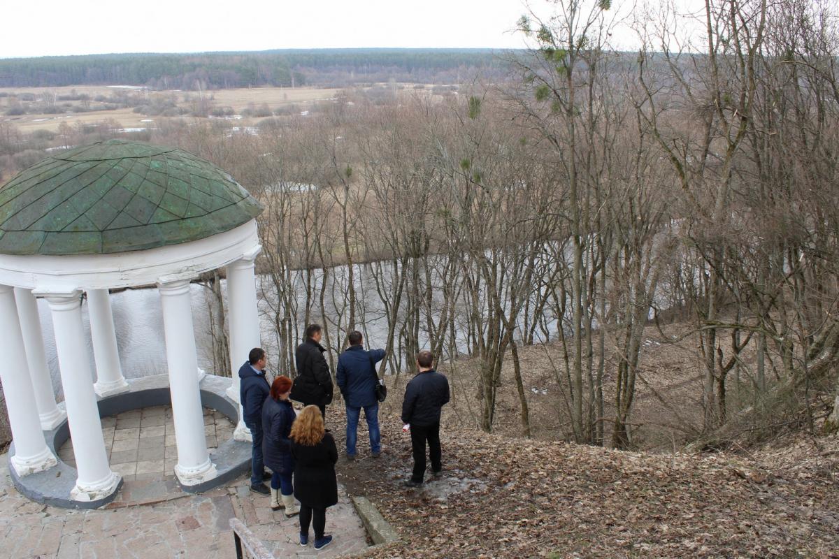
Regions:
[[347, 458], [356, 458], [358, 417], [364, 408], [367, 431], [370, 432], [370, 451], [373, 458], [382, 452], [382, 437], [378, 430], [378, 400], [376, 364], [384, 359], [384, 349], [364, 350], [362, 333], [353, 330], [347, 335], [350, 342], [338, 358], [335, 380], [347, 405]]

